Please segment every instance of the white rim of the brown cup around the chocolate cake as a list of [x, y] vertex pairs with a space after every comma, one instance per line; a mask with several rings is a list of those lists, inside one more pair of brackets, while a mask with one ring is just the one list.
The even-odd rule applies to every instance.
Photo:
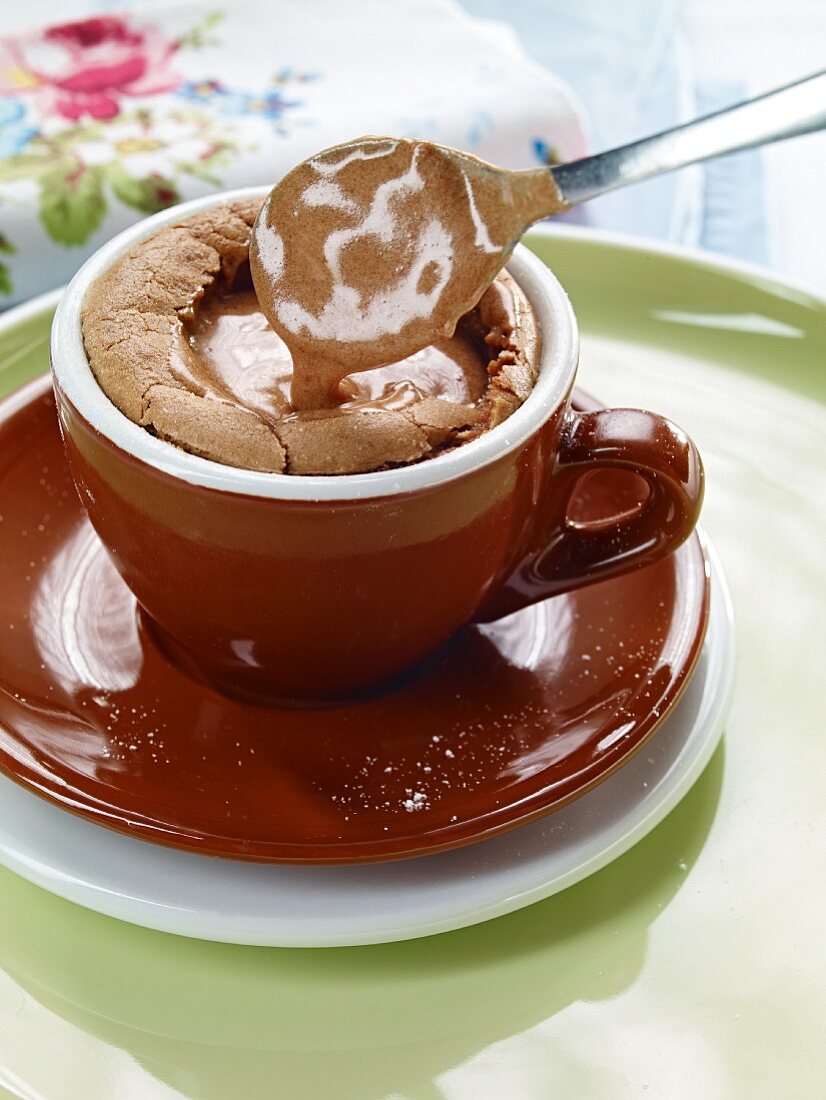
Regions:
[[80, 312], [89, 285], [123, 253], [164, 226], [209, 207], [267, 194], [246, 187], [194, 199], [137, 222], [102, 245], [80, 267], [60, 298], [52, 326], [52, 372], [63, 396], [101, 436], [126, 454], [178, 481], [205, 488], [279, 501], [354, 501], [417, 492], [489, 465], [538, 431], [565, 398], [579, 360], [579, 331], [557, 277], [524, 245], [507, 264], [530, 302], [542, 334], [539, 377], [527, 400], [506, 420], [454, 451], [395, 470], [364, 474], [305, 475], [240, 470], [190, 454], [124, 416], [92, 374]]

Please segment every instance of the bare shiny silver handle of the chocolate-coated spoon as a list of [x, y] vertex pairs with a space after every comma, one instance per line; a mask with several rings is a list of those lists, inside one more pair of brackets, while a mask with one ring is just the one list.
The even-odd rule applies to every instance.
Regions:
[[684, 125], [551, 169], [566, 206], [662, 172], [826, 128], [826, 72]]

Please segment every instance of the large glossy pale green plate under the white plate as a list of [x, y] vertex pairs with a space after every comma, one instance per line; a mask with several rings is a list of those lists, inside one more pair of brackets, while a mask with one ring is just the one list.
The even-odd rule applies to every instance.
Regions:
[[[826, 302], [707, 257], [585, 233], [533, 242], [580, 317], [583, 385], [662, 409], [701, 447], [703, 524], [738, 626], [723, 746], [610, 866], [428, 939], [311, 952], [199, 943], [2, 870], [0, 1091], [821, 1096]], [[49, 311], [32, 307], [2, 329], [8, 388], [45, 369]]]

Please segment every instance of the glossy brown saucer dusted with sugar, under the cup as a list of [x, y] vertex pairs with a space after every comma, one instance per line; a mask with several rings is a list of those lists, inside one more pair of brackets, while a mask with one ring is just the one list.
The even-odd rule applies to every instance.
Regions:
[[[625, 510], [627, 480], [601, 477], [581, 507]], [[213, 856], [394, 859], [547, 814], [651, 736], [708, 612], [695, 535], [467, 628], [394, 692], [269, 710], [189, 679], [143, 630], [75, 493], [45, 378], [0, 405], [0, 768], [100, 825]]]

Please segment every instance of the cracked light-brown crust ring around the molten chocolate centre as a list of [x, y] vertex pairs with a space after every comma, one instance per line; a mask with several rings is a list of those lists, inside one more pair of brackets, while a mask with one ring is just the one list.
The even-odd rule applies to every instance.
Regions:
[[199, 391], [175, 371], [187, 326], [249, 260], [261, 200], [213, 207], [159, 230], [89, 288], [81, 315], [92, 373], [130, 420], [202, 458], [273, 473], [361, 473], [421, 461], [495, 427], [536, 381], [539, 337], [519, 287], [502, 273], [464, 319], [486, 348], [480, 402], [425, 397], [401, 410], [324, 410], [271, 418]]

